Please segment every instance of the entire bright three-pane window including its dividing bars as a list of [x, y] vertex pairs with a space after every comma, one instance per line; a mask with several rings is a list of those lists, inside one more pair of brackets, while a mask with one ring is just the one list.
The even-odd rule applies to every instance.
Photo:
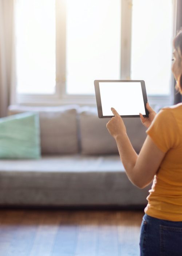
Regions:
[[176, 0], [15, 3], [20, 103], [95, 104], [95, 79], [139, 79], [169, 104]]

